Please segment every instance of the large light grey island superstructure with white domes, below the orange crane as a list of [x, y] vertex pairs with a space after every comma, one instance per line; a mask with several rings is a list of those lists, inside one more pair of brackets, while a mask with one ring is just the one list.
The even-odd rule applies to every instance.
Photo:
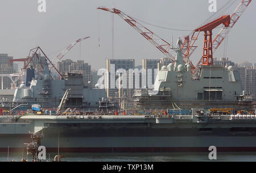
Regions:
[[134, 101], [144, 109], [254, 109], [253, 97], [242, 91], [240, 74], [233, 66], [204, 65], [191, 75], [191, 65], [184, 64], [180, 49], [175, 64], [158, 71], [154, 90], [135, 91]]

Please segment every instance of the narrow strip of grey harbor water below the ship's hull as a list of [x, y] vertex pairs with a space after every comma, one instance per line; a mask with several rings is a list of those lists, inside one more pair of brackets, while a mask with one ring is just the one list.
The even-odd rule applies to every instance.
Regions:
[[[60, 153], [67, 162], [256, 162], [256, 153], [217, 153], [216, 160], [209, 160], [209, 153]], [[47, 153], [47, 161], [53, 161], [57, 153]], [[0, 162], [7, 162], [8, 153], [0, 153]], [[31, 162], [31, 156], [23, 153]], [[9, 153], [11, 160], [21, 161], [22, 153]]]

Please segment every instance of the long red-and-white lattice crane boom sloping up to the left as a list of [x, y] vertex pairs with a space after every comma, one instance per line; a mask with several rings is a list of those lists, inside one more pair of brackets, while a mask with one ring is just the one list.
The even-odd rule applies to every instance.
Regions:
[[153, 44], [156, 48], [158, 48], [164, 55], [171, 59], [171, 61], [175, 62], [175, 57], [170, 54], [170, 43], [163, 40], [161, 37], [150, 31], [150, 29], [144, 27], [142, 24], [138, 23], [135, 19], [131, 18], [131, 16], [126, 15], [121, 10], [117, 10], [115, 8], [107, 9], [103, 7], [98, 7], [97, 9], [109, 11], [114, 14], [118, 14], [125, 22], [129, 23], [131, 27], [133, 27], [136, 31], [141, 33], [143, 37], [145, 37], [151, 44]]

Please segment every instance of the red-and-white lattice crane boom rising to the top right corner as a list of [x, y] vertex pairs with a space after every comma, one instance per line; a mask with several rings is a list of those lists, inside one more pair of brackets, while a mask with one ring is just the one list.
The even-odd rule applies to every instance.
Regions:
[[234, 24], [237, 23], [237, 20], [243, 14], [243, 11], [249, 6], [251, 0], [242, 0], [242, 2], [237, 6], [236, 10], [234, 10], [233, 14], [230, 16], [230, 25], [229, 27], [223, 26], [218, 32], [217, 36], [213, 39], [212, 47], [213, 52], [220, 46], [222, 41], [228, 35], [229, 31], [233, 28]]

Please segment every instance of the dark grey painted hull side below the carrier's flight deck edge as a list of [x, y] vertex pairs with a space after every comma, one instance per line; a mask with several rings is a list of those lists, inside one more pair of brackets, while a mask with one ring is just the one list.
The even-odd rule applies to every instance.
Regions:
[[[213, 127], [220, 124], [191, 125], [51, 127], [43, 129], [41, 145], [57, 151], [59, 133], [61, 152], [208, 151], [212, 145], [219, 151], [256, 151], [255, 128], [241, 131], [233, 129], [234, 124], [225, 125], [228, 128]], [[30, 141], [30, 134], [5, 134], [0, 138], [1, 151], [7, 151], [7, 146], [10, 151], [21, 151], [23, 143]]]

